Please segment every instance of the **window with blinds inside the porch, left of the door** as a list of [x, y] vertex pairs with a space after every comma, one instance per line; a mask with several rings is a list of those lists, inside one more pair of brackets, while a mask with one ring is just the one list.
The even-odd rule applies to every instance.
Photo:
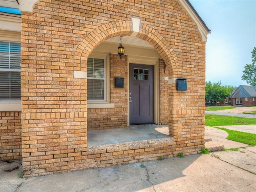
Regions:
[[88, 100], [106, 100], [106, 67], [105, 59], [88, 58], [87, 93]]

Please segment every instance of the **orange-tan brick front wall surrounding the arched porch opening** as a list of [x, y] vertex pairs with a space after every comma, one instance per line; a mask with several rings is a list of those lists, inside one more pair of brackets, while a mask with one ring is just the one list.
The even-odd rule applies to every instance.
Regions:
[[[178, 92], [175, 84], [168, 85], [169, 133], [174, 137], [174, 143], [163, 144], [172, 149], [163, 150], [169, 156], [174, 151], [193, 154], [204, 145], [205, 42], [178, 1], [160, 4], [154, 0], [110, 0], [107, 3], [101, 0], [41, 0], [33, 12], [22, 12], [21, 121], [26, 176], [54, 170], [65, 172], [84, 162], [95, 165], [95, 159], [89, 158], [92, 151], [87, 148], [87, 125], [92, 129], [104, 125], [99, 123], [93, 127], [88, 116], [92, 119], [93, 114], [100, 113], [106, 123], [119, 117], [124, 123], [119, 121], [118, 124], [126, 124], [127, 91], [123, 93], [113, 87], [115, 70], [121, 72], [114, 62], [116, 56], [112, 55], [115, 68], [111, 69], [110, 77], [110, 100], [116, 102], [112, 111], [87, 109], [87, 80], [74, 78], [74, 71], [86, 72], [88, 56], [103, 41], [114, 36], [130, 36], [132, 17], [141, 21], [136, 37], [154, 46], [166, 64], [168, 78], [188, 79], [186, 92]], [[121, 65], [127, 68], [123, 63]], [[166, 109], [166, 106], [161, 108], [163, 113]], [[106, 117], [108, 112], [110, 116]], [[112, 123], [105, 127], [109, 124]], [[155, 156], [159, 156], [157, 153], [162, 153], [161, 150], [154, 149]], [[106, 156], [102, 153], [101, 157]], [[140, 155], [135, 150], [131, 153], [133, 160]], [[116, 155], [111, 154], [105, 166], [114, 164], [108, 161], [111, 158], [116, 159]], [[89, 165], [81, 167], [88, 168]]]

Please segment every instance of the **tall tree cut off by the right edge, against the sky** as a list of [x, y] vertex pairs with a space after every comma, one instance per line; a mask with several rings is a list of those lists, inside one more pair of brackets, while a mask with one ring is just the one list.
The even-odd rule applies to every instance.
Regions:
[[251, 53], [252, 64], [246, 64], [241, 78], [249, 85], [256, 85], [256, 47], [253, 48]]

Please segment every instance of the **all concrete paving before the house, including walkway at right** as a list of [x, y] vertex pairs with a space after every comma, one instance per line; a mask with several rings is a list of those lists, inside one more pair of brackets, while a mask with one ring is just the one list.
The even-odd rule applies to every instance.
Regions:
[[239, 148], [239, 151], [195, 154], [27, 180], [18, 178], [17, 170], [3, 171], [20, 165], [19, 162], [1, 162], [0, 192], [256, 191], [256, 146], [227, 140], [225, 131], [212, 127], [206, 127], [205, 135], [224, 148]]

